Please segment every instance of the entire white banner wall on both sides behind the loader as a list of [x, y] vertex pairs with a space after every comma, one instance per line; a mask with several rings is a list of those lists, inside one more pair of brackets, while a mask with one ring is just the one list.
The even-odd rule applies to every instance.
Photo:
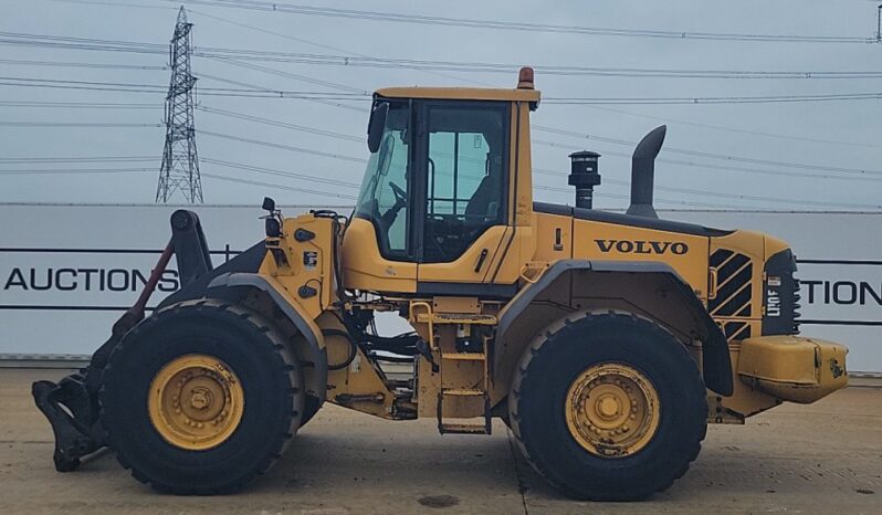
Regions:
[[[170, 206], [0, 204], [0, 354], [91, 354], [137, 298], [168, 241]], [[305, 207], [283, 208], [285, 214]], [[216, 263], [263, 234], [258, 207], [200, 206]], [[349, 213], [350, 208], [338, 211]], [[847, 344], [853, 371], [882, 372], [882, 213], [669, 211], [764, 231], [799, 262], [802, 334]], [[174, 260], [150, 305], [177, 288]], [[384, 323], [384, 326], [400, 324]]]

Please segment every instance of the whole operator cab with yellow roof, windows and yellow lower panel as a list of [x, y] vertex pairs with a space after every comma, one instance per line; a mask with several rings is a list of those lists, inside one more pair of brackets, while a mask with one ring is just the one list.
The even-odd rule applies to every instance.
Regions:
[[[528, 137], [526, 116], [538, 98], [532, 88], [378, 91], [368, 123], [370, 159], [349, 228], [356, 230], [347, 230], [344, 242], [353, 250], [351, 240], [358, 240], [361, 259], [344, 259], [345, 267], [379, 270], [377, 262], [364, 264], [369, 252], [397, 278], [410, 276], [407, 264], [413, 263], [423, 271], [421, 282], [443, 282], [447, 269], [431, 265], [450, 264], [469, 271], [451, 283], [494, 282], [491, 254], [514, 237], [507, 229], [514, 224], [516, 141], [518, 135]], [[529, 151], [524, 147], [522, 156]], [[524, 171], [528, 177], [529, 168]], [[365, 270], [347, 274], [347, 284], [354, 277], [359, 283], [358, 272]], [[364, 288], [386, 290], [370, 283], [379, 287]]]

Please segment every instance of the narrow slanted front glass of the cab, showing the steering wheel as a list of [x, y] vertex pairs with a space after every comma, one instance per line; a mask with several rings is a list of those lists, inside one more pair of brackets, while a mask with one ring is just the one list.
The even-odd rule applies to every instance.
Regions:
[[355, 209], [356, 217], [374, 222], [380, 250], [388, 255], [407, 254], [409, 115], [407, 103], [389, 103], [380, 146], [370, 155]]

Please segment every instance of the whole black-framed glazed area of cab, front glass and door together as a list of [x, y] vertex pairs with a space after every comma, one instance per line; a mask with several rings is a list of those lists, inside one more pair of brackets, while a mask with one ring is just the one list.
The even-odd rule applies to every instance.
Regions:
[[355, 216], [374, 223], [384, 258], [454, 261], [505, 224], [508, 112], [501, 102], [377, 98], [374, 116], [386, 119]]

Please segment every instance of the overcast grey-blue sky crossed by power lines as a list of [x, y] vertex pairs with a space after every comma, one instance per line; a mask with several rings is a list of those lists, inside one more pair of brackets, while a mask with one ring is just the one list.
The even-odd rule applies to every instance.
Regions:
[[[292, 0], [292, 3], [300, 0]], [[308, 0], [303, 0], [307, 2]], [[114, 3], [114, 4], [108, 4]], [[137, 8], [124, 3], [147, 6]], [[704, 41], [694, 39], [643, 39], [549, 32], [501, 31], [475, 28], [328, 18], [188, 4], [195, 23], [193, 43], [198, 48], [220, 46], [260, 51], [313, 54], [414, 59], [430, 61], [506, 63], [515, 65], [570, 65], [599, 67], [794, 71], [794, 72], [880, 72], [882, 45], [791, 42]], [[210, 3], [210, 2], [207, 2]], [[330, 2], [316, 2], [328, 7]], [[0, 0], [0, 31], [93, 38], [167, 44], [180, 3], [162, 0]], [[501, 9], [504, 6], [504, 9]], [[753, 34], [842, 35], [872, 38], [876, 29], [876, 3], [864, 0], [707, 2], [704, 0], [444, 2], [340, 1], [334, 7], [370, 9], [405, 14], [426, 14], [466, 19], [494, 19], [529, 23], [585, 25], [619, 29], [726, 32]], [[223, 21], [228, 20], [228, 21]], [[238, 24], [230, 23], [233, 21]], [[263, 30], [242, 27], [252, 25]], [[273, 34], [276, 32], [281, 35]], [[285, 38], [285, 34], [290, 38]], [[336, 50], [330, 50], [334, 48]], [[143, 65], [149, 70], [115, 70], [24, 65], [9, 61], [76, 62]], [[76, 51], [0, 44], [0, 76], [64, 81], [114, 82], [166, 85], [169, 71], [156, 70], [166, 56], [120, 52]], [[516, 73], [443, 72], [441, 74], [405, 69], [377, 69], [298, 63], [255, 63], [290, 74], [345, 84], [365, 92], [389, 85], [468, 85], [470, 82], [512, 87]], [[229, 63], [195, 57], [195, 75], [200, 87], [242, 87], [219, 82], [221, 77], [271, 90], [338, 92], [327, 85], [306, 83]], [[202, 75], [206, 76], [202, 76]], [[636, 78], [599, 76], [557, 76], [536, 74], [536, 86], [545, 97], [718, 97], [766, 95], [822, 95], [875, 93], [882, 78]], [[0, 101], [63, 103], [149, 103], [149, 109], [84, 109], [20, 107], [0, 103], [0, 122], [159, 124], [162, 93], [98, 92], [12, 87], [0, 85]], [[347, 102], [357, 109], [303, 99], [200, 96], [200, 105], [274, 119], [356, 138], [365, 134], [366, 102]], [[776, 104], [725, 105], [616, 105], [573, 106], [543, 104], [533, 115], [534, 125], [603, 138], [637, 141], [662, 123], [668, 124], [666, 147], [748, 157], [786, 164], [807, 164], [871, 174], [811, 171], [804, 168], [745, 164], [691, 157], [662, 150], [661, 158], [681, 161], [660, 162], [657, 204], [666, 208], [714, 207], [766, 209], [854, 209], [879, 210], [882, 204], [882, 99]], [[202, 134], [212, 132], [250, 139], [305, 147], [337, 156], [364, 159], [363, 141], [333, 138], [292, 128], [231, 118], [197, 111], [197, 144], [200, 157], [249, 166], [284, 170], [304, 176], [334, 178], [357, 185], [364, 165], [292, 150], [232, 141]], [[713, 126], [713, 127], [711, 127]], [[732, 130], [734, 129], [734, 130]], [[748, 134], [767, 133], [769, 136]], [[165, 129], [162, 127], [45, 127], [0, 125], [0, 201], [3, 202], [153, 202], [159, 175]], [[773, 137], [771, 135], [784, 136]], [[534, 130], [536, 140], [554, 141], [558, 147], [534, 144], [534, 166], [567, 172], [567, 155], [574, 147], [603, 155], [600, 170], [605, 183], [596, 198], [600, 207], [623, 207], [627, 186], [616, 181], [630, 178], [626, 157], [632, 147], [577, 139]], [[15, 158], [66, 157], [151, 157], [133, 162], [29, 162]], [[689, 165], [691, 164], [691, 165]], [[741, 167], [775, 174], [733, 171], [712, 167]], [[10, 174], [19, 170], [71, 168], [150, 168], [149, 171], [115, 174]], [[255, 171], [201, 164], [206, 203], [260, 203], [272, 195], [281, 203], [349, 204], [333, 195], [354, 196], [357, 190], [323, 185], [308, 179], [279, 177]], [[874, 176], [872, 172], [875, 171]], [[784, 175], [783, 175], [784, 174]], [[787, 175], [790, 174], [790, 175]], [[797, 174], [797, 176], [792, 176]], [[828, 177], [818, 177], [826, 175]], [[224, 181], [237, 179], [286, 185], [327, 192], [317, 196], [272, 187]], [[815, 176], [815, 177], [812, 177]], [[833, 177], [875, 178], [838, 180]], [[535, 175], [540, 186], [567, 191], [537, 189], [537, 200], [573, 203], [566, 177]], [[762, 197], [764, 200], [710, 197], [682, 191], [713, 191], [724, 195]], [[780, 202], [765, 200], [780, 199]], [[176, 198], [182, 201], [181, 197]], [[804, 203], [788, 200], [805, 201]], [[841, 206], [812, 206], [807, 202]], [[678, 202], [689, 202], [681, 204]]]

